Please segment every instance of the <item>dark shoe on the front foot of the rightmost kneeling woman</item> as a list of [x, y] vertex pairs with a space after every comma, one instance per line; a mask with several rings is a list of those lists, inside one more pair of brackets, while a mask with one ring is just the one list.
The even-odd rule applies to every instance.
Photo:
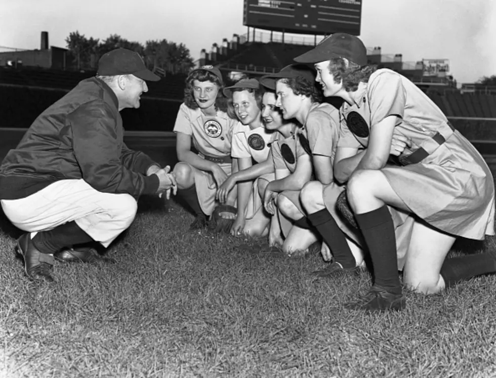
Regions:
[[406, 298], [401, 294], [393, 294], [384, 287], [373, 285], [368, 293], [357, 302], [345, 304], [351, 310], [375, 311], [401, 311], [406, 307]]

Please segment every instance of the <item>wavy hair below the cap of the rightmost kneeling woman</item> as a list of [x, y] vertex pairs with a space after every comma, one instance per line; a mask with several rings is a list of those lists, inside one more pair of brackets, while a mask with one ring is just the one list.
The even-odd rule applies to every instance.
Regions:
[[368, 82], [368, 78], [377, 70], [377, 65], [367, 64], [359, 66], [345, 58], [333, 58], [329, 61], [329, 72], [334, 82], [339, 84], [343, 80], [343, 88], [347, 92], [355, 92], [360, 82]]

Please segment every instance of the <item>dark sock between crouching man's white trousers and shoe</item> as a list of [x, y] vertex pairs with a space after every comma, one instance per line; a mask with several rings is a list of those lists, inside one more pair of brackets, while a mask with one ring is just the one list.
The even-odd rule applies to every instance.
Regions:
[[36, 249], [44, 254], [53, 254], [64, 247], [93, 241], [90, 235], [76, 224], [67, 222], [49, 231], [38, 232], [32, 239]]

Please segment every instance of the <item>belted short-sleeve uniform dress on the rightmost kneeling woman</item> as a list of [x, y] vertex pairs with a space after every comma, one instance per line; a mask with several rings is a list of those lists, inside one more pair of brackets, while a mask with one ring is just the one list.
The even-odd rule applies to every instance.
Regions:
[[[412, 213], [452, 235], [494, 235], [494, 182], [482, 156], [429, 97], [389, 69], [374, 72], [341, 108], [339, 147], [366, 148], [371, 128], [388, 116], [412, 140], [384, 173]], [[412, 159], [419, 156], [421, 159]]]

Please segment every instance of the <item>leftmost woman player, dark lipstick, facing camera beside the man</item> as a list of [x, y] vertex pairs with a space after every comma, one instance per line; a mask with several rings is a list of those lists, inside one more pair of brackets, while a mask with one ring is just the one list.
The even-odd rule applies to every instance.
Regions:
[[[231, 139], [237, 119], [228, 116], [222, 94], [221, 72], [213, 66], [202, 66], [186, 78], [184, 103], [179, 108], [174, 132], [179, 163], [174, 167], [178, 195], [196, 215], [190, 229], [207, 225], [216, 205], [215, 195], [236, 162], [231, 159]], [[191, 151], [191, 142], [198, 154]], [[236, 191], [227, 204], [234, 205]]]

